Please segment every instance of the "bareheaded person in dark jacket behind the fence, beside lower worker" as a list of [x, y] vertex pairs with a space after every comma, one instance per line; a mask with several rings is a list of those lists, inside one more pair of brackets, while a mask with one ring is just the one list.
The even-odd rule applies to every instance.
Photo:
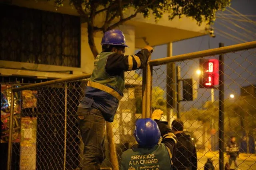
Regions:
[[172, 130], [177, 137], [177, 153], [173, 162], [174, 170], [196, 170], [196, 147], [190, 135], [183, 132], [183, 122], [179, 119], [172, 121]]

